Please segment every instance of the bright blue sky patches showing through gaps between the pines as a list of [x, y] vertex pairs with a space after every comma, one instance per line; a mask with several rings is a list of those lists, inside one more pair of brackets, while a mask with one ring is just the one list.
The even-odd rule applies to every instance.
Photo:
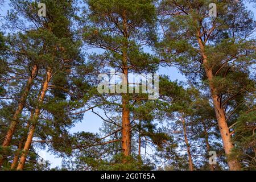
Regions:
[[[7, 10], [9, 10], [9, 1], [5, 2], [5, 5], [0, 7], [0, 15], [3, 16], [7, 13]], [[253, 11], [254, 16], [256, 18], [256, 9], [250, 4], [247, 4], [248, 9]], [[1, 22], [0, 22], [1, 24]], [[97, 51], [96, 51], [97, 52]], [[159, 69], [160, 75], [168, 75], [171, 80], [178, 80], [178, 81], [185, 81], [185, 77], [181, 75], [176, 68], [169, 67], [169, 68], [160, 68]], [[100, 109], [94, 109], [94, 111], [98, 111], [99, 113], [102, 113]], [[71, 133], [75, 133], [78, 131], [89, 131], [92, 133], [96, 133], [99, 131], [99, 128], [102, 125], [102, 120], [92, 113], [91, 111], [88, 111], [84, 114], [84, 119], [82, 122], [77, 123], [75, 127], [71, 129]], [[56, 158], [54, 155], [50, 154], [47, 151], [38, 151], [39, 155], [44, 158], [44, 160], [49, 160], [51, 162], [51, 167], [60, 166], [61, 164], [61, 158]]]

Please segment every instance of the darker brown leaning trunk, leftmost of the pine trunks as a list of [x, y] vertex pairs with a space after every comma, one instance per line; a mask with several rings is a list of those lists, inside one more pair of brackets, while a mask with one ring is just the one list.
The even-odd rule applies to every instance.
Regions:
[[[18, 108], [16, 109], [16, 111], [14, 113], [13, 121], [11, 121], [9, 130], [7, 131], [5, 139], [3, 140], [3, 144], [2, 144], [3, 150], [5, 150], [5, 148], [10, 145], [11, 139], [13, 138], [14, 131], [19, 122], [20, 114], [22, 113], [22, 110], [23, 110], [24, 106], [26, 105], [27, 96], [28, 96], [28, 93], [30, 92], [31, 86], [34, 83], [34, 79], [36, 77], [37, 72], [38, 72], [38, 67], [37, 67], [37, 65], [34, 65], [32, 68], [32, 71], [31, 71], [31, 75], [28, 78], [27, 85], [24, 88], [24, 92], [22, 93], [22, 96], [19, 100]], [[1, 168], [4, 160], [5, 160], [5, 157], [2, 157], [0, 159], [0, 168]]]

